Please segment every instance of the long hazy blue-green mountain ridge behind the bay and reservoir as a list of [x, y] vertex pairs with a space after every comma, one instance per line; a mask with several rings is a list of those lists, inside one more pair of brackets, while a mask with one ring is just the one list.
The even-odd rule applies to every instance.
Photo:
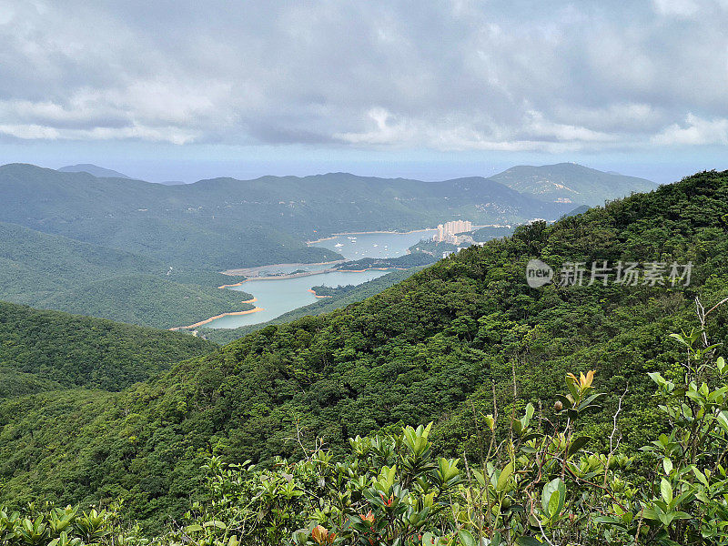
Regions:
[[[164, 186], [29, 165], [0, 167], [0, 221], [156, 258], [180, 268], [239, 268], [339, 258], [305, 241], [336, 231], [555, 219], [566, 206], [484, 178], [216, 178]], [[571, 207], [573, 208], [573, 207]]]

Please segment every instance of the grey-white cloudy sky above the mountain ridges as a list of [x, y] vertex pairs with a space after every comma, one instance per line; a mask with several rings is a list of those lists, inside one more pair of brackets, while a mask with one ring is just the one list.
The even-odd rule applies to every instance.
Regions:
[[0, 0], [0, 163], [663, 182], [728, 168], [726, 28], [728, 0]]

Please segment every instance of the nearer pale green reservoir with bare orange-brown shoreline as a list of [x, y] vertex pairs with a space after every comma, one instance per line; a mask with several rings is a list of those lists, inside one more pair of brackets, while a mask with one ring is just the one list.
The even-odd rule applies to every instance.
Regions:
[[369, 270], [362, 273], [332, 271], [308, 277], [275, 278], [271, 280], [248, 280], [239, 287], [230, 288], [252, 294], [258, 301], [255, 305], [264, 310], [249, 315], [231, 315], [215, 319], [205, 328], [239, 328], [275, 319], [283, 313], [318, 301], [308, 289], [315, 286], [336, 288], [346, 285], [359, 285], [362, 282], [386, 275], [389, 271]]

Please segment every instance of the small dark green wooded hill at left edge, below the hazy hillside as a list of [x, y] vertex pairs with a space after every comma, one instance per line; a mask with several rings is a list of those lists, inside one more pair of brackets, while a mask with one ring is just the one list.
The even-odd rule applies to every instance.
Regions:
[[[217, 345], [186, 334], [0, 301], [0, 398], [53, 388], [121, 390]], [[18, 375], [24, 374], [24, 375]], [[21, 380], [22, 379], [22, 380]]]

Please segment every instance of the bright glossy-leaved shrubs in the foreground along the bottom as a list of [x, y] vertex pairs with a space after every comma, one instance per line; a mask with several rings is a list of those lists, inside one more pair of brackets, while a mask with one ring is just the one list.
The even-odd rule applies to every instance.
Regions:
[[[678, 338], [682, 339], [682, 338]], [[584, 450], [578, 422], [592, 402], [594, 372], [566, 376], [561, 419], [531, 404], [497, 440], [490, 417], [487, 457], [435, 455], [432, 423], [399, 435], [349, 439], [337, 460], [317, 444], [303, 460], [272, 469], [208, 460], [210, 498], [162, 541], [209, 546], [471, 546], [571, 544], [682, 546], [728, 544], [728, 367], [710, 347], [691, 350], [684, 383], [651, 374], [674, 424], [647, 447], [654, 472], [634, 472], [635, 453]], [[701, 354], [702, 353], [702, 354]], [[691, 386], [698, 375], [719, 387]], [[695, 411], [693, 411], [695, 410]], [[723, 417], [721, 417], [723, 416]], [[535, 417], [535, 419], [534, 419]], [[697, 424], [696, 424], [697, 421]], [[616, 431], [616, 426], [614, 428]], [[697, 431], [697, 435], [696, 435]], [[710, 440], [708, 440], [710, 438]], [[632, 457], [630, 457], [632, 455]], [[645, 470], [652, 467], [644, 460]], [[640, 484], [632, 480], [639, 480]]]

